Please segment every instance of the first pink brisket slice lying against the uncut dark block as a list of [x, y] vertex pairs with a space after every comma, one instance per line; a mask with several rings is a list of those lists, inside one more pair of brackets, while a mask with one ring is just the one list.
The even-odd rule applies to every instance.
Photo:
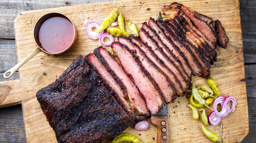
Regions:
[[120, 85], [117, 84], [115, 79], [107, 71], [107, 69], [99, 61], [99, 59], [94, 54], [89, 54], [84, 59], [85, 61], [87, 61], [88, 65], [90, 65], [95, 71], [97, 71], [101, 75], [102, 79], [105, 81], [105, 83], [107, 83], [105, 87], [109, 88], [110, 93], [111, 91], [114, 92], [112, 93], [113, 97], [115, 97], [119, 105], [123, 107], [124, 111], [126, 111], [129, 117], [131, 117], [136, 122], [143, 120], [144, 118], [136, 116], [135, 113], [133, 112], [134, 110], [132, 109], [129, 100], [127, 99], [126, 87], [121, 88]]

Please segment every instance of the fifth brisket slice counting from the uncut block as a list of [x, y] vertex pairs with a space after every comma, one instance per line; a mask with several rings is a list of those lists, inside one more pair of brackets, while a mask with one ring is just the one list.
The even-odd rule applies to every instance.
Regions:
[[[153, 52], [152, 48], [149, 47], [147, 44], [139, 40], [138, 37], [133, 35], [129, 36], [129, 39], [139, 47], [155, 64], [166, 74], [169, 80], [173, 83], [173, 86], [178, 95], [183, 94], [181, 89], [180, 81], [174, 76], [174, 73], [164, 64], [164, 62]], [[173, 98], [174, 100], [174, 98]]]

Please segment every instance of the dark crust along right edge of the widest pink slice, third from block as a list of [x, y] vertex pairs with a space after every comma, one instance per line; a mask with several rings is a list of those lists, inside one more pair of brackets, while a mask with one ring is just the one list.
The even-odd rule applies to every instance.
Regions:
[[[126, 45], [124, 45], [124, 44], [122, 44], [122, 43], [120, 43], [120, 42], [117, 42], [117, 41], [112, 43], [112, 45], [111, 45], [112, 49], [113, 49], [113, 44], [118, 44], [118, 45], [120, 45], [122, 48], [124, 48], [125, 50], [127, 50], [127, 51], [130, 52], [130, 50], [127, 48]], [[113, 51], [114, 51], [114, 50], [113, 50]], [[153, 87], [155, 88], [155, 90], [157, 91], [157, 94], [160, 96], [160, 99], [161, 99], [161, 102], [162, 102], [162, 103], [158, 106], [158, 111], [157, 111], [156, 113], [152, 113], [152, 112], [151, 112], [151, 114], [158, 114], [158, 113], [160, 113], [161, 108], [162, 108], [163, 105], [164, 105], [164, 99], [163, 99], [163, 96], [162, 96], [162, 94], [161, 94], [161, 92], [160, 92], [160, 88], [158, 87], [158, 85], [157, 85], [157, 83], [155, 82], [155, 80], [150, 76], [150, 74], [148, 73], [148, 71], [146, 71], [146, 70], [142, 67], [142, 65], [141, 65], [140, 61], [138, 60], [138, 58], [137, 58], [134, 54], [132, 54], [132, 56], [133, 56], [133, 58], [136, 60], [136, 61], [135, 61], [136, 64], [138, 64], [138, 66], [140, 67], [140, 71], [143, 73], [143, 75], [145, 75], [145, 76], [149, 79], [149, 81], [151, 82], [151, 84], [153, 85]], [[123, 66], [122, 63], [121, 63], [121, 65]], [[143, 95], [143, 98], [145, 98], [144, 95]]]

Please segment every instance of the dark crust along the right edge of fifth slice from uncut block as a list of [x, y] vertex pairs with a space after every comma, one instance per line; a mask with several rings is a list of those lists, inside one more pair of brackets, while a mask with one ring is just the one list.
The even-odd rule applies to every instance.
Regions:
[[[169, 76], [170, 78], [172, 78], [172, 80], [174, 80], [174, 84], [178, 86], [179, 89], [177, 89], [177, 88], [175, 88], [175, 89], [176, 89], [176, 92], [179, 94], [179, 96], [181, 96], [181, 95], [182, 95], [181, 84], [180, 84], [180, 81], [179, 81], [177, 78], [175, 78], [173, 71], [171, 71], [171, 70], [164, 64], [164, 62], [153, 52], [153, 50], [152, 50], [151, 47], [149, 47], [146, 43], [144, 43], [144, 42], [142, 42], [141, 40], [139, 40], [138, 37], [135, 37], [135, 36], [133, 36], [133, 35], [130, 35], [130, 36], [129, 36], [129, 39], [133, 40], [133, 41], [134, 41], [133, 43], [134, 43], [135, 45], [137, 45], [138, 47], [139, 47], [139, 46], [144, 46], [144, 47], [146, 47], [146, 49], [145, 49], [146, 51], [145, 51], [145, 52], [149, 52], [149, 53], [154, 57], [154, 59], [160, 63], [160, 66], [162, 66], [163, 69], [166, 70], [166, 72], [168, 73], [168, 76]], [[135, 43], [135, 42], [136, 42], [136, 43]], [[175, 100], [175, 99], [176, 99], [176, 98], [173, 98], [173, 100]]]

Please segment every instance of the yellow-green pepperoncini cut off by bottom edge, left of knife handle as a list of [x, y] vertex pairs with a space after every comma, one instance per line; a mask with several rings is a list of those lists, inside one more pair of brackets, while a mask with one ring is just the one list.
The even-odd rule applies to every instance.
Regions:
[[142, 142], [139, 140], [139, 138], [135, 135], [132, 134], [120, 134], [117, 135], [111, 143], [119, 143], [119, 142], [131, 142], [131, 143], [148, 143], [147, 142]]

